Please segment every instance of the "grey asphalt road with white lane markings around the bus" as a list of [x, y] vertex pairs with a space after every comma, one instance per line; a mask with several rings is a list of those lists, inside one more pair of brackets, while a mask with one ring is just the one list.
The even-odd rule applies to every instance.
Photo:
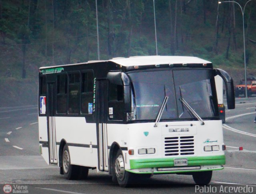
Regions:
[[[240, 101], [248, 102], [240, 104]], [[254, 103], [255, 101], [255, 103]], [[236, 109], [226, 111], [228, 129], [224, 128], [224, 141], [228, 149], [243, 146], [247, 150], [256, 150], [256, 125], [253, 123], [256, 98], [238, 99]], [[20, 191], [27, 193], [199, 193], [192, 176], [188, 175], [154, 175], [143, 180], [133, 188], [120, 188], [113, 184], [111, 176], [90, 170], [87, 180], [66, 180], [59, 174], [59, 168], [48, 166], [39, 154], [38, 119], [36, 106], [0, 108], [0, 193], [4, 193], [4, 184], [14, 189], [27, 186]], [[237, 131], [239, 130], [239, 131]], [[241, 132], [242, 131], [242, 132]], [[10, 133], [11, 132], [11, 133]], [[246, 135], [246, 133], [248, 133]], [[256, 136], [256, 135], [255, 135]], [[217, 193], [221, 186], [251, 186], [256, 193], [256, 168], [225, 166], [224, 170], [213, 172], [210, 186], [216, 187]], [[207, 187], [210, 188], [209, 186]], [[17, 191], [16, 187], [16, 191]], [[201, 190], [202, 191], [202, 190]], [[206, 192], [206, 190], [203, 190]]]

